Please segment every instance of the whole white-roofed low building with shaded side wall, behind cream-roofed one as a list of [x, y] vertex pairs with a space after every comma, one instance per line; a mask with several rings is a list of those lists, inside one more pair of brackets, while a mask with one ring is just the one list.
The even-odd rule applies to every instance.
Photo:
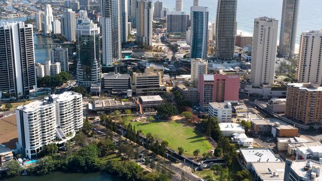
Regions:
[[238, 162], [244, 170], [250, 170], [254, 162], [282, 162], [269, 148], [239, 148]]

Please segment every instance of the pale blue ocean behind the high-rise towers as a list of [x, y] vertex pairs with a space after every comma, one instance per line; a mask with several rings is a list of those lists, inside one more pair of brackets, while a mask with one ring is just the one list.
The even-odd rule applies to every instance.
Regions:
[[[156, 1], [156, 0], [153, 0]], [[163, 7], [174, 10], [175, 0], [162, 0]], [[283, 0], [238, 0], [237, 32], [243, 35], [253, 35], [254, 19], [268, 16], [280, 22]], [[183, 10], [190, 13], [193, 0], [183, 0]], [[199, 0], [200, 6], [209, 8], [209, 21], [216, 16], [217, 0]], [[299, 19], [297, 27], [297, 43], [302, 32], [322, 29], [322, 0], [300, 0]]]

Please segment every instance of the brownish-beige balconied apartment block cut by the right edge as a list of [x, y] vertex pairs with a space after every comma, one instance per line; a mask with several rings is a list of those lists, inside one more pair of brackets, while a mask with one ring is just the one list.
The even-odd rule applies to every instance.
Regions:
[[304, 125], [321, 125], [322, 87], [314, 84], [287, 85], [286, 117]]

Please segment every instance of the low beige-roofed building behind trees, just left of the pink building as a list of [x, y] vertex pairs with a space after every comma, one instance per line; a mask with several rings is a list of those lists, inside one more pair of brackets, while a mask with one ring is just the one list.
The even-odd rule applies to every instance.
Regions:
[[191, 102], [193, 105], [198, 104], [199, 102], [198, 88], [179, 84], [176, 86], [176, 90], [178, 90], [181, 93], [182, 98], [184, 100]]

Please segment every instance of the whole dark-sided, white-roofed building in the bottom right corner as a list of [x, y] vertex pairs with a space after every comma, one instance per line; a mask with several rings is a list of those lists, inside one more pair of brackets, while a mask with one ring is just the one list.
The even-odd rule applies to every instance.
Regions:
[[321, 162], [315, 160], [286, 160], [284, 181], [322, 181]]

